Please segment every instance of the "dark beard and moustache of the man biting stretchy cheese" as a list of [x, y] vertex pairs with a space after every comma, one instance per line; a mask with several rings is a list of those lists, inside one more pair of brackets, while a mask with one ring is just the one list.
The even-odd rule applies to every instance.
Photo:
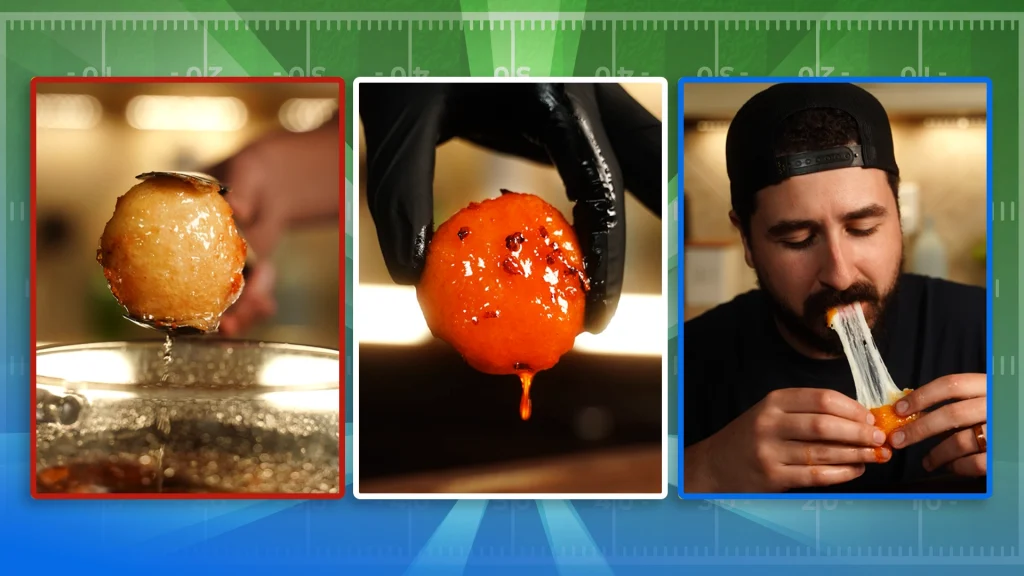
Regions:
[[828, 310], [860, 302], [864, 316], [871, 326], [871, 334], [880, 339], [884, 330], [885, 312], [896, 295], [903, 259], [889, 286], [884, 292], [868, 282], [857, 282], [846, 290], [825, 288], [811, 294], [804, 300], [804, 313], [787, 306], [774, 292], [770, 276], [755, 266], [758, 285], [767, 296], [772, 312], [785, 330], [803, 345], [828, 356], [843, 356], [843, 341], [839, 334], [828, 327]]

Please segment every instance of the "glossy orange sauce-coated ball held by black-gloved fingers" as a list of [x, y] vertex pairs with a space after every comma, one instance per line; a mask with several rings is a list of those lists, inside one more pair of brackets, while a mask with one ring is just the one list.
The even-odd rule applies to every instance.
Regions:
[[572, 348], [588, 289], [572, 227], [541, 198], [502, 191], [438, 227], [417, 296], [470, 366], [528, 379]]

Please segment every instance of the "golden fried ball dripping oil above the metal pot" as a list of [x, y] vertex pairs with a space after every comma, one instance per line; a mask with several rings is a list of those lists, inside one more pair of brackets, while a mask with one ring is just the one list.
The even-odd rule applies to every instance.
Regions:
[[216, 331], [242, 293], [247, 250], [223, 190], [181, 173], [138, 177], [96, 252], [111, 292], [136, 321]]

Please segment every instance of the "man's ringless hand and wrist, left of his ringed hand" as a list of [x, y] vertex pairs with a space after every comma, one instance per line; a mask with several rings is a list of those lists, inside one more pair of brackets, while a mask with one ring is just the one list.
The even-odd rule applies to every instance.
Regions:
[[865, 463], [892, 457], [880, 448], [886, 436], [873, 423], [866, 408], [842, 393], [775, 390], [686, 450], [686, 492], [772, 493], [849, 482], [864, 474]]

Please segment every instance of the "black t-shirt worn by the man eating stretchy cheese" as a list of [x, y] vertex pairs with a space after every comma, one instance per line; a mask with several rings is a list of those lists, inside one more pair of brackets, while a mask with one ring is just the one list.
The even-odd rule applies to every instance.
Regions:
[[[893, 381], [916, 388], [987, 369], [985, 290], [904, 274], [877, 344]], [[780, 388], [833, 388], [857, 398], [845, 357], [812, 360], [788, 345], [767, 295], [752, 290], [684, 325], [684, 446], [700, 442]], [[929, 474], [926, 454], [947, 435], [895, 450], [849, 483], [811, 492], [984, 492], [984, 480]], [[951, 485], [949, 484], [951, 483]]]

